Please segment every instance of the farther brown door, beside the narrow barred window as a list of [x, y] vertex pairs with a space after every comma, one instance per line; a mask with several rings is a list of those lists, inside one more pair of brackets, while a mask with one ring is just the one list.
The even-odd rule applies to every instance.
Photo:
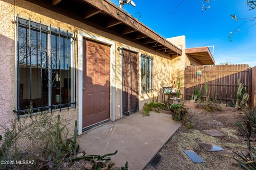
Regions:
[[138, 53], [123, 49], [123, 112], [138, 110]]

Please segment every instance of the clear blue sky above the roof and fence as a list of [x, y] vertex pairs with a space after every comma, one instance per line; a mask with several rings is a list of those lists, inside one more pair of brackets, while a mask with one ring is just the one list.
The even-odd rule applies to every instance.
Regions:
[[[202, 13], [203, 0], [185, 0], [173, 15], [181, 0], [133, 0], [136, 7], [125, 5], [124, 10], [145, 23], [149, 28], [164, 38], [186, 36], [186, 47], [202, 47], [214, 45], [213, 57], [215, 62], [229, 61], [231, 64], [256, 65], [256, 25], [248, 22], [235, 32], [233, 41], [227, 38], [230, 31], [236, 29], [243, 20], [235, 21], [230, 14], [237, 18], [256, 16], [256, 10], [249, 11], [246, 0], [215, 0], [211, 8]], [[118, 0], [111, 0], [118, 4]], [[173, 16], [173, 17], [172, 17]], [[256, 21], [254, 21], [256, 23]]]

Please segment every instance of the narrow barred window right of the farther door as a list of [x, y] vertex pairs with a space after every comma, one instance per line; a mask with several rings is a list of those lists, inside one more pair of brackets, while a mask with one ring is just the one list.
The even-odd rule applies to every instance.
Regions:
[[153, 92], [153, 57], [141, 54], [141, 92]]

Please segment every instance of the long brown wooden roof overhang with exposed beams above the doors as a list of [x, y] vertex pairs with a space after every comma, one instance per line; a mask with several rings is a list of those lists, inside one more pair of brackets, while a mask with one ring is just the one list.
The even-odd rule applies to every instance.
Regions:
[[109, 0], [27, 0], [97, 29], [112, 33], [158, 52], [177, 56], [182, 50]]

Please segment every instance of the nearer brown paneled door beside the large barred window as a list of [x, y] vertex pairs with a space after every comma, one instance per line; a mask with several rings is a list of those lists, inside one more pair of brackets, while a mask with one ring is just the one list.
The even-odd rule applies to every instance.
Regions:
[[110, 47], [83, 39], [83, 128], [109, 119]]

